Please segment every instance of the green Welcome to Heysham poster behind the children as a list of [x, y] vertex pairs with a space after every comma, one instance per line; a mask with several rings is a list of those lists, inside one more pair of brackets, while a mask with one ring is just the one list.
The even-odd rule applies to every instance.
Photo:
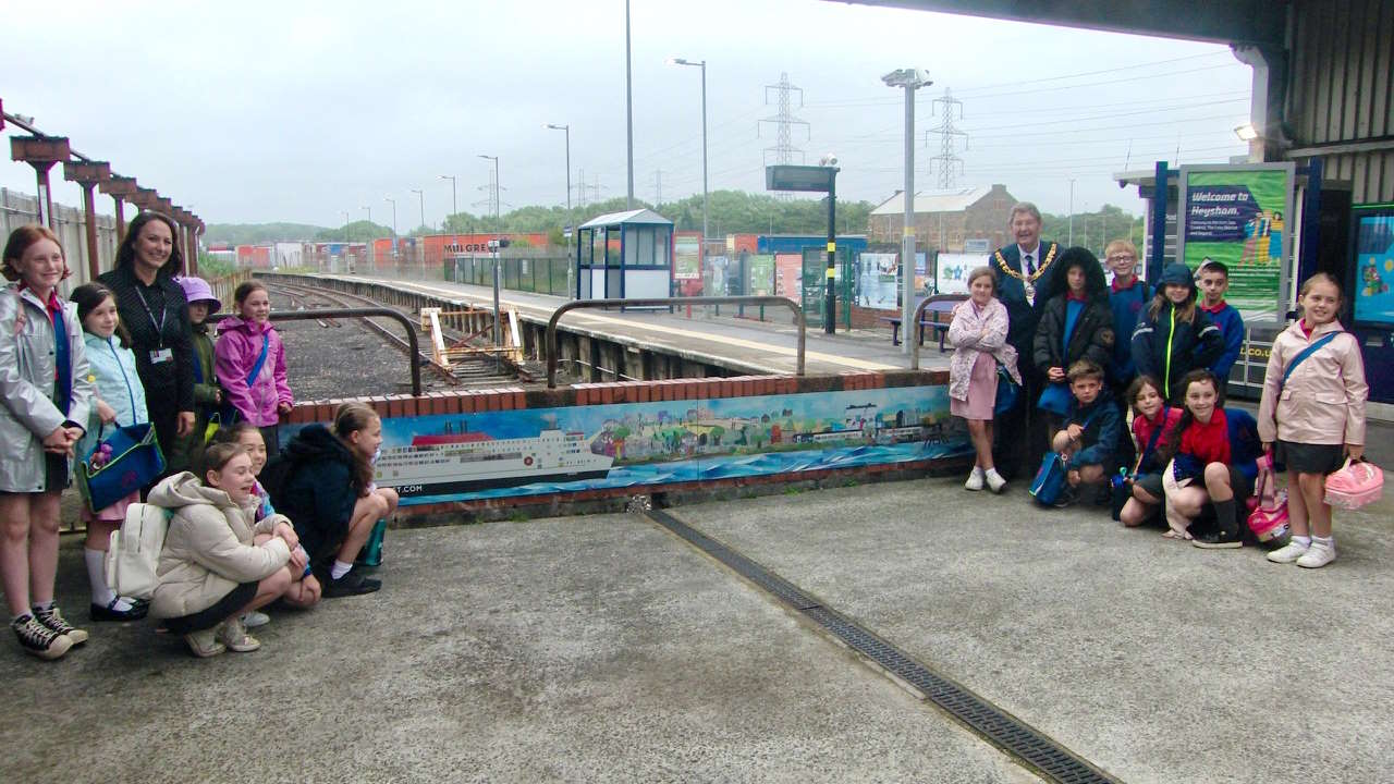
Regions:
[[1225, 300], [1245, 324], [1277, 324], [1287, 311], [1292, 183], [1292, 163], [1181, 169], [1179, 258], [1190, 269], [1207, 259], [1224, 262]]

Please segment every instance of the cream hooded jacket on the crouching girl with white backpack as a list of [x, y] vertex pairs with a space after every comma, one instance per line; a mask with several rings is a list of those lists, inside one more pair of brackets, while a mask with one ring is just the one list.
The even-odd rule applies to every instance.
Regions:
[[252, 513], [261, 504], [255, 495], [238, 506], [227, 492], [183, 472], [155, 485], [149, 504], [173, 512], [155, 571], [159, 583], [151, 615], [156, 618], [208, 610], [240, 583], [261, 582], [290, 561], [290, 548], [280, 537], [252, 544], [255, 534], [290, 522], [272, 515], [254, 525]]

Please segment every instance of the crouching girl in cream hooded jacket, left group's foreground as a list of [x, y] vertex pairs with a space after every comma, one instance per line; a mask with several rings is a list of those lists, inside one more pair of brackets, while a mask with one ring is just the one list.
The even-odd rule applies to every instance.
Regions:
[[[252, 459], [237, 444], [215, 444], [204, 455], [205, 481], [184, 472], [151, 491], [149, 502], [174, 512], [151, 615], [184, 635], [194, 656], [256, 650], [241, 615], [279, 598], [305, 555], [284, 515], [255, 520]], [[268, 534], [261, 544], [259, 534]]]

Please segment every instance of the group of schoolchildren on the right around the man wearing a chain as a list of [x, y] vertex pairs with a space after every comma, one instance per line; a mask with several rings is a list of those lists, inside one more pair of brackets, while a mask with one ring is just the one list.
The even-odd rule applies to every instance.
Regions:
[[[1057, 293], [1036, 303], [1032, 342], [1041, 392], [1005, 403], [1032, 406], [1048, 421], [1050, 442], [1034, 459], [1047, 449], [1059, 456], [1065, 487], [1054, 505], [1093, 499], [1125, 526], [1160, 519], [1167, 538], [1235, 548], [1249, 536], [1246, 501], [1260, 462], [1285, 465], [1291, 537], [1269, 561], [1334, 561], [1324, 478], [1362, 456], [1368, 393], [1359, 345], [1337, 321], [1340, 283], [1326, 273], [1302, 283], [1299, 318], [1274, 340], [1255, 419], [1224, 405], [1245, 329], [1224, 299], [1228, 268], [1171, 264], [1153, 289], [1136, 275], [1138, 251], [1126, 240], [1107, 246], [1105, 264], [1111, 283], [1085, 248], [1055, 259], [1055, 285], [1043, 290]], [[1006, 343], [998, 290], [993, 268], [970, 272], [969, 299], [948, 331], [951, 413], [967, 420], [977, 455], [965, 483], [972, 491], [1006, 485], [994, 466], [993, 419], [1004, 412], [999, 396], [1013, 384], [1026, 388], [1030, 367], [1019, 368]]]

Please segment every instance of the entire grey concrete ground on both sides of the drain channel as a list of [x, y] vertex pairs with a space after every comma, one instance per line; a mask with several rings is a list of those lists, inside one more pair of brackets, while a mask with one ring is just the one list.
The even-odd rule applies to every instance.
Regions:
[[[1303, 571], [959, 481], [669, 513], [1118, 780], [1394, 781], [1394, 498]], [[0, 781], [1034, 780], [641, 515], [393, 530], [381, 576], [250, 654], [7, 643]], [[77, 537], [59, 583], [85, 621]]]

